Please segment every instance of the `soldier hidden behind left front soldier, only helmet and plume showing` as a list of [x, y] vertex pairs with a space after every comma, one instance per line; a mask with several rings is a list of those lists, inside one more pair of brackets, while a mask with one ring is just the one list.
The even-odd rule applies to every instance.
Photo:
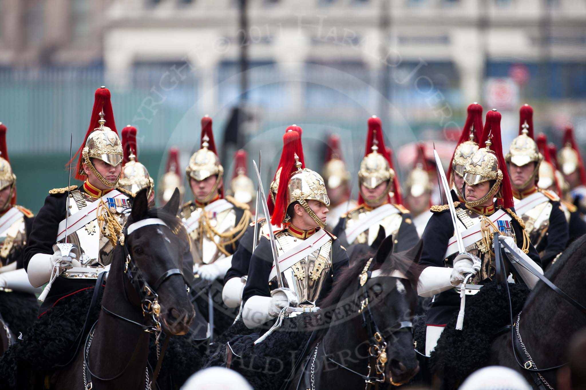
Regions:
[[122, 159], [122, 172], [118, 185], [133, 194], [137, 194], [143, 188], [148, 188], [149, 207], [154, 206], [155, 182], [148, 174], [147, 167], [138, 162], [136, 127], [127, 125], [122, 129], [122, 151], [124, 151], [124, 158]]

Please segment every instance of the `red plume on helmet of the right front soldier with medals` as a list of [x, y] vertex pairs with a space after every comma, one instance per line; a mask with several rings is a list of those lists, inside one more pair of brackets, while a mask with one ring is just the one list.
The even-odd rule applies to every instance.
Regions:
[[509, 172], [507, 171], [505, 157], [503, 156], [503, 142], [500, 137], [500, 119], [500, 113], [495, 109], [486, 113], [479, 147], [486, 147], [486, 141], [489, 139], [492, 142], [490, 150], [496, 155], [499, 163], [499, 170], [503, 173], [503, 180], [500, 183], [500, 194], [502, 195], [502, 199], [499, 199], [499, 205], [504, 208], [512, 208], [513, 191], [509, 180]]

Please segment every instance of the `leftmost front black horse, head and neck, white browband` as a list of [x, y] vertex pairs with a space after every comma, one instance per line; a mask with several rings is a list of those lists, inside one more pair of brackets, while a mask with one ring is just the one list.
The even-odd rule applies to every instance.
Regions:
[[[73, 362], [53, 375], [52, 388], [81, 389], [91, 382], [94, 389], [144, 389], [153, 375], [147, 364], [151, 333], [145, 330], [156, 334], [160, 326], [167, 337], [188, 332], [195, 312], [180, 272], [190, 253], [178, 208], [177, 189], [162, 209], [148, 208], [147, 191], [137, 194], [125, 242], [114, 249], [98, 321]], [[139, 221], [145, 226], [127, 234]]]

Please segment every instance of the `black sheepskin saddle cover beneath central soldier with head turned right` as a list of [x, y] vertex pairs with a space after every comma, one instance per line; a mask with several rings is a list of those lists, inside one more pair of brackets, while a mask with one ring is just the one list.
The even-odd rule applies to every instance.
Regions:
[[240, 372], [254, 389], [279, 390], [292, 376], [295, 364], [308, 353], [306, 348], [312, 331], [304, 325], [303, 316], [285, 319], [280, 329], [263, 342], [254, 344], [260, 332], [233, 337], [217, 348], [206, 367], [226, 367], [227, 351], [230, 351], [230, 368]]

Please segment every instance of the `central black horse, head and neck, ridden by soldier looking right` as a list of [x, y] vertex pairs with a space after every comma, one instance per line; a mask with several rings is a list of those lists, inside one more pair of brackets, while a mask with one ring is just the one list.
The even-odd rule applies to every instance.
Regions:
[[322, 303], [329, 326], [315, 337], [289, 390], [400, 385], [417, 374], [411, 319], [421, 248], [420, 242], [393, 253], [387, 237], [374, 257], [367, 246], [353, 250], [350, 267]]

